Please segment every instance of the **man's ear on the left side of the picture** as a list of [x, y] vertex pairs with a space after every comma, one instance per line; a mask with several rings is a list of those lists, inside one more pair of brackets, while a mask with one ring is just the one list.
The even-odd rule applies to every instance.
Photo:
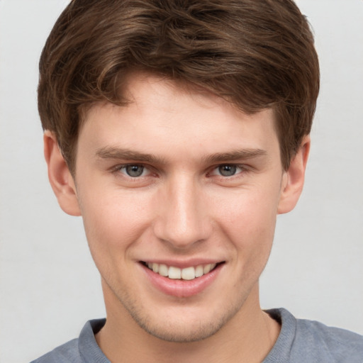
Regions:
[[44, 133], [44, 156], [48, 164], [48, 178], [57, 197], [60, 208], [71, 216], [80, 216], [76, 186], [72, 174], [58, 147], [55, 135], [46, 130]]

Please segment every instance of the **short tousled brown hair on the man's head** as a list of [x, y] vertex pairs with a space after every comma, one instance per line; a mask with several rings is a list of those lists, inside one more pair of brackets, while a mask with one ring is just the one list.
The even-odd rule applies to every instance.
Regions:
[[133, 69], [202, 86], [245, 113], [273, 108], [284, 169], [310, 133], [318, 57], [291, 0], [72, 0], [40, 58], [38, 108], [74, 172], [84, 110], [124, 105]]

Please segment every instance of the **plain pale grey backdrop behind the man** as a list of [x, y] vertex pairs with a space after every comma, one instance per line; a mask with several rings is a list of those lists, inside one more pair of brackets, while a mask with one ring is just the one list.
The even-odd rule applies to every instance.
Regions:
[[[105, 315], [81, 218], [48, 185], [38, 59], [66, 0], [0, 0], [0, 362], [19, 363]], [[363, 1], [300, 0], [320, 56], [306, 187], [279, 216], [262, 307], [363, 334]]]

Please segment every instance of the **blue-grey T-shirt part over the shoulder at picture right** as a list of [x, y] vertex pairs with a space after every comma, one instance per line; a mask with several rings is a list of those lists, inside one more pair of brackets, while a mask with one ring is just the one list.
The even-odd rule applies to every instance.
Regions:
[[276, 362], [363, 363], [362, 335], [317, 321], [296, 319], [283, 308], [268, 313], [281, 323], [271, 357], [279, 356]]

